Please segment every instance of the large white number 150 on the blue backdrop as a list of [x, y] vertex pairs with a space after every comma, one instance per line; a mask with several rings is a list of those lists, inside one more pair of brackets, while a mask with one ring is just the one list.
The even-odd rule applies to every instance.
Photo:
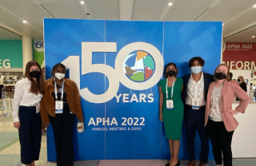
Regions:
[[[126, 73], [123, 72], [123, 63], [126, 56], [135, 51], [144, 50], [154, 58], [155, 70], [154, 74], [148, 81], [134, 82], [126, 77]], [[115, 94], [118, 93], [119, 82], [125, 85], [129, 89], [144, 90], [150, 89], [156, 85], [159, 79], [162, 77], [163, 71], [163, 59], [159, 50], [146, 42], [133, 42], [124, 46], [115, 58], [114, 68], [110, 65], [104, 64], [92, 64], [93, 52], [117, 52], [116, 42], [82, 42], [82, 75], [86, 73], [103, 73], [109, 80], [109, 88], [105, 93], [94, 94], [91, 93], [88, 88], [80, 89], [80, 61], [79, 56], [67, 57], [62, 63], [66, 65], [67, 69], [70, 69], [70, 79], [73, 80], [80, 89], [80, 95], [86, 101], [92, 103], [104, 103], [110, 101]], [[107, 57], [106, 57], [107, 58]]]

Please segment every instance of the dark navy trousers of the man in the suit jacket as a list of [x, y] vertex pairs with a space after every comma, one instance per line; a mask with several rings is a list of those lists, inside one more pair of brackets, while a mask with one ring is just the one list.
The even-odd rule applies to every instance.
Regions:
[[195, 158], [194, 139], [196, 130], [198, 130], [198, 134], [201, 140], [200, 161], [206, 164], [208, 162], [209, 156], [209, 137], [206, 136], [206, 128], [204, 127], [205, 113], [205, 107], [202, 109], [192, 109], [186, 105], [184, 117], [186, 124], [186, 144], [187, 151], [189, 153], [189, 160], [194, 160]]

